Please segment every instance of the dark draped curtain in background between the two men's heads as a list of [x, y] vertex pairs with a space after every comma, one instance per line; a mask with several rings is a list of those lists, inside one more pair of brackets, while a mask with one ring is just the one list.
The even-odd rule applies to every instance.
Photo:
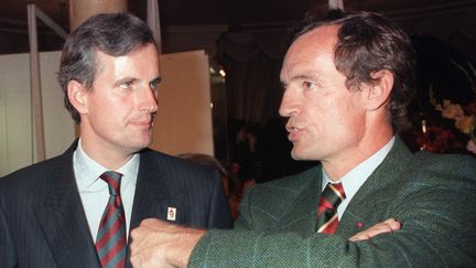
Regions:
[[226, 76], [228, 117], [263, 126], [278, 117], [279, 79], [288, 30], [230, 28], [217, 43], [217, 62]]

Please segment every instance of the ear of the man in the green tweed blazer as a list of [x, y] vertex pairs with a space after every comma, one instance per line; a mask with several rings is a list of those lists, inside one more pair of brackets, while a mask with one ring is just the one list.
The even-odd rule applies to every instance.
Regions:
[[367, 110], [376, 110], [387, 104], [393, 89], [393, 74], [388, 69], [381, 69], [370, 74], [374, 83], [368, 86]]

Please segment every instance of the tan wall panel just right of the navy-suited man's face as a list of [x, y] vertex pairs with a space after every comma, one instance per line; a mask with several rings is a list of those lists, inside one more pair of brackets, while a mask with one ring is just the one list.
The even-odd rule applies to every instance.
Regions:
[[152, 148], [214, 154], [210, 78], [204, 51], [161, 55], [162, 82]]

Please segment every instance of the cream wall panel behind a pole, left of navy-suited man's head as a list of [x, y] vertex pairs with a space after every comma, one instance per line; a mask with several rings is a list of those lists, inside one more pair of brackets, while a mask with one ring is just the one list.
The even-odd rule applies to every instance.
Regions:
[[[46, 158], [67, 149], [74, 122], [56, 82], [60, 52], [40, 53]], [[0, 176], [36, 161], [33, 153], [29, 54], [0, 55]]]

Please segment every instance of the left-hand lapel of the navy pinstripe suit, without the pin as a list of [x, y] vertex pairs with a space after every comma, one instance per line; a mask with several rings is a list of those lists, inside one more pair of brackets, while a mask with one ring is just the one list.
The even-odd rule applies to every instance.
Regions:
[[77, 141], [60, 157], [56, 173], [46, 180], [36, 218], [58, 267], [99, 267], [73, 171]]

